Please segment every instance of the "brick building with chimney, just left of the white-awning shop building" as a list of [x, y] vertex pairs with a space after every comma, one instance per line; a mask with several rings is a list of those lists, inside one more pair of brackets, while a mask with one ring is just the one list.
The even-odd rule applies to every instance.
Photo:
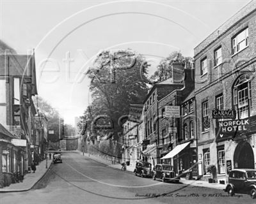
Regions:
[[[159, 150], [163, 148], [163, 140], [160, 140], [161, 112], [159, 113], [159, 101], [171, 92], [182, 89], [184, 64], [172, 63], [172, 77], [154, 84], [143, 101], [143, 129], [145, 133], [144, 142], [147, 149], [143, 150], [145, 161], [155, 165], [160, 163]], [[163, 110], [164, 111], [164, 110]]]

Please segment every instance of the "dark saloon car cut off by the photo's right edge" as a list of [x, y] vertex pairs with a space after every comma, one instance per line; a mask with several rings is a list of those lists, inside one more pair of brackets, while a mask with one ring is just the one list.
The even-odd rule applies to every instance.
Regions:
[[245, 193], [256, 198], [256, 170], [234, 169], [230, 171], [225, 191], [230, 196], [234, 196], [235, 193]]

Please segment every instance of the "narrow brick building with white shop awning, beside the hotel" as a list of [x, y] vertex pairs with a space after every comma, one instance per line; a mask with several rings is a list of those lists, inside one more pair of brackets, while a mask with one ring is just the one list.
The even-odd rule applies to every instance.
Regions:
[[[196, 161], [194, 69], [184, 69], [184, 83], [159, 101], [159, 156], [161, 163], [172, 164], [174, 170], [182, 172]], [[178, 117], [166, 117], [166, 106], [179, 107]], [[197, 174], [196, 168], [194, 169]]]

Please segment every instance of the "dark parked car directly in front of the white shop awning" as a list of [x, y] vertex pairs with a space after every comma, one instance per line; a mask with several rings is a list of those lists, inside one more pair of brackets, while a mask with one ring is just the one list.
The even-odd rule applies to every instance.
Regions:
[[160, 179], [163, 182], [175, 181], [179, 183], [179, 177], [176, 177], [175, 171], [173, 171], [173, 166], [169, 164], [156, 164], [153, 170], [153, 179]]

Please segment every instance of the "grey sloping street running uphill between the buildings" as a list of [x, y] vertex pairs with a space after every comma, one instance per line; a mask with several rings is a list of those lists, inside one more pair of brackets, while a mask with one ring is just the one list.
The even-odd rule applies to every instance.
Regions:
[[135, 177], [83, 157], [64, 152], [63, 163], [52, 164], [31, 191], [1, 194], [6, 203], [253, 203], [250, 196], [227, 197], [218, 189], [186, 186]]

